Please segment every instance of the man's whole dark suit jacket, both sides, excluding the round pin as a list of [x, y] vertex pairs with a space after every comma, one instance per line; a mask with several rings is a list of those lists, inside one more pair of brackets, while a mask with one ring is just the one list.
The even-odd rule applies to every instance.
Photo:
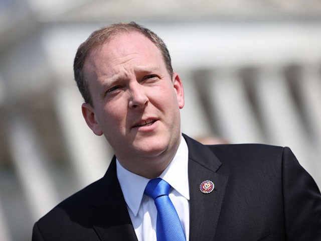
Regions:
[[[321, 240], [321, 195], [288, 148], [189, 147], [190, 240]], [[200, 191], [211, 180], [215, 189]], [[105, 176], [36, 222], [38, 240], [137, 240], [115, 158]]]

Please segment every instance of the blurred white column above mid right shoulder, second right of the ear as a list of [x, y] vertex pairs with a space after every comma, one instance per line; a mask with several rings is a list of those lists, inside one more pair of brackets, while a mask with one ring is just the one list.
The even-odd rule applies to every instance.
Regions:
[[215, 71], [208, 90], [223, 138], [232, 143], [264, 142], [245, 87], [236, 71]]

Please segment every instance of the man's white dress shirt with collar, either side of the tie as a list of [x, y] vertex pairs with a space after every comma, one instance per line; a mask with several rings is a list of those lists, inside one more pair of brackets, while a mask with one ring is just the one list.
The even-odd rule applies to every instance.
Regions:
[[[153, 199], [144, 195], [149, 179], [129, 172], [120, 165], [118, 160], [116, 160], [116, 168], [117, 178], [138, 240], [156, 241], [156, 206]], [[188, 147], [183, 137], [174, 159], [159, 177], [173, 187], [169, 197], [181, 219], [186, 240], [189, 240]]]

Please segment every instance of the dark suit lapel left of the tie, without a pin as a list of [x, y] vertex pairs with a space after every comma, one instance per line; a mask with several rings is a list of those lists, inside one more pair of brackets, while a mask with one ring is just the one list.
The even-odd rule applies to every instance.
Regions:
[[102, 198], [93, 203], [92, 224], [102, 241], [137, 241], [116, 174], [115, 157], [111, 161], [106, 175], [102, 178]]

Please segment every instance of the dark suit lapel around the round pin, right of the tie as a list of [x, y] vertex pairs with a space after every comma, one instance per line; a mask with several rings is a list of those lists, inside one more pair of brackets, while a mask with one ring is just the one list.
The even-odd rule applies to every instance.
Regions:
[[[184, 135], [189, 147], [190, 241], [214, 239], [228, 177], [217, 173], [221, 162], [206, 146]], [[203, 181], [214, 183], [204, 194]]]

